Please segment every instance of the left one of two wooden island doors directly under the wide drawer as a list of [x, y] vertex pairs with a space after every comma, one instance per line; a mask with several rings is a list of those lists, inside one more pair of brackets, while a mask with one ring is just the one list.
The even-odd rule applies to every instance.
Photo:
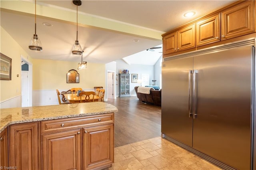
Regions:
[[43, 170], [81, 170], [81, 130], [42, 134]]

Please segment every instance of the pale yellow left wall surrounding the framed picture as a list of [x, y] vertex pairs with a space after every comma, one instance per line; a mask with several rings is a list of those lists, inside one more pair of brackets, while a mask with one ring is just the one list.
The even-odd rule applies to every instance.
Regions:
[[[21, 95], [21, 57], [27, 57], [20, 45], [1, 27], [0, 51], [12, 58], [12, 80], [0, 80], [0, 101]], [[29, 42], [29, 39], [28, 39]], [[30, 57], [28, 57], [28, 60]], [[17, 77], [17, 74], [19, 77]]]

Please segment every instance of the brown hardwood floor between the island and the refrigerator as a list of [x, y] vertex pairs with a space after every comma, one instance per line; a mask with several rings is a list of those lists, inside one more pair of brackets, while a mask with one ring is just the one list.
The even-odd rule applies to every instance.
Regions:
[[115, 147], [161, 136], [161, 107], [144, 104], [137, 97], [108, 99], [115, 113]]

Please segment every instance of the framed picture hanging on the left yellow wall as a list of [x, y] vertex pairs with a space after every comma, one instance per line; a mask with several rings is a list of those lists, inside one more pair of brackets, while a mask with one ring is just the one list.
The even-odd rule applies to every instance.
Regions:
[[12, 80], [12, 59], [0, 53], [0, 80]]

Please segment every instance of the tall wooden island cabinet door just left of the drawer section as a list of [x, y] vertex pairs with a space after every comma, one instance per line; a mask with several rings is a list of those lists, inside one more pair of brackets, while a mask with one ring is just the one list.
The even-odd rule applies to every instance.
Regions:
[[18, 170], [39, 169], [38, 123], [10, 126], [10, 164]]

